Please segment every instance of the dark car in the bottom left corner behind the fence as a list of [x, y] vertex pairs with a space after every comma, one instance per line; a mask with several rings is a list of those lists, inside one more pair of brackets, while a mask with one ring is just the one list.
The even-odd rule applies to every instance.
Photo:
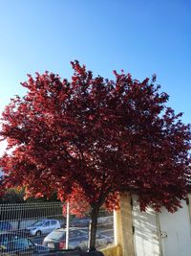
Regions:
[[34, 244], [31, 239], [17, 233], [4, 232], [0, 234], [0, 255], [32, 255], [33, 253], [48, 253], [44, 245]]

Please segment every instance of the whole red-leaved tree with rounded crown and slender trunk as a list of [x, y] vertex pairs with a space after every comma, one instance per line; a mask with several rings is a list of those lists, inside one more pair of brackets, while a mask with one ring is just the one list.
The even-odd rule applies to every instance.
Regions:
[[138, 195], [174, 212], [186, 198], [190, 128], [166, 106], [156, 78], [115, 81], [93, 77], [77, 61], [72, 81], [46, 72], [29, 76], [28, 89], [5, 108], [0, 135], [8, 141], [1, 159], [7, 187], [30, 196], [57, 192], [63, 201], [85, 198], [91, 207], [90, 249], [95, 248], [100, 206], [117, 206], [118, 193]]

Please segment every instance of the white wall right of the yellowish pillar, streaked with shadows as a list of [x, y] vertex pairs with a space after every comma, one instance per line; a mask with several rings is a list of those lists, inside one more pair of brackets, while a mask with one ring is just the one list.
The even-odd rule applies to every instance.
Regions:
[[133, 198], [136, 256], [190, 256], [191, 223], [185, 201], [182, 208], [171, 214], [165, 208], [156, 213], [151, 208], [140, 212]]

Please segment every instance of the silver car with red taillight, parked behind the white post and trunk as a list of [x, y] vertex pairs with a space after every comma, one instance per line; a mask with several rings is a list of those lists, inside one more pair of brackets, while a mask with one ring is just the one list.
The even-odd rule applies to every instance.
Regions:
[[[69, 231], [69, 248], [87, 249], [88, 247], [89, 231], [87, 228], [78, 229], [76, 227], [70, 228]], [[96, 235], [96, 246], [109, 244], [112, 239], [101, 234]], [[65, 249], [66, 248], [66, 229], [58, 228], [53, 230], [43, 241], [50, 250]]]

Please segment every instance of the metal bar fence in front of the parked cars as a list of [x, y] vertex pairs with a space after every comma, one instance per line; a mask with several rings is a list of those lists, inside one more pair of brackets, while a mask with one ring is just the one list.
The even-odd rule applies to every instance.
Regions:
[[[67, 219], [63, 215], [65, 206], [60, 202], [0, 204], [0, 250], [33, 250], [34, 247], [40, 251], [64, 249], [67, 245], [69, 248], [86, 249], [89, 213], [76, 218], [70, 214], [69, 207]], [[101, 208], [97, 220], [96, 247], [113, 243], [113, 213]]]

